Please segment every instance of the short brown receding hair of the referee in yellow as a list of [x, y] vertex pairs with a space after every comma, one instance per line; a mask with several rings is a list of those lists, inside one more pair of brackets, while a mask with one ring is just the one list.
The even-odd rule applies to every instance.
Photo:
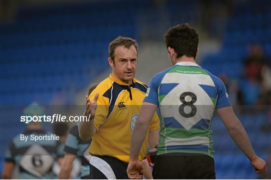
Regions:
[[108, 48], [108, 54], [109, 57], [114, 60], [114, 53], [115, 49], [118, 46], [124, 45], [124, 47], [129, 48], [131, 45], [135, 47], [135, 50], [137, 50], [137, 55], [138, 55], [138, 42], [135, 39], [132, 39], [130, 37], [123, 37], [123, 36], [118, 36], [115, 38], [113, 41], [110, 42], [109, 48]]

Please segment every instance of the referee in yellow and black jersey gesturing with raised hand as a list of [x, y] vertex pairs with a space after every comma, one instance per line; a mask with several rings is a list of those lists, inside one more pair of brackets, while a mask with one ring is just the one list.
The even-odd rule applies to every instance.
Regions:
[[[86, 96], [86, 112], [92, 120], [80, 122], [79, 133], [85, 140], [92, 137], [90, 178], [127, 179], [131, 133], [147, 92], [147, 85], [134, 78], [137, 41], [121, 36], [114, 39], [109, 44], [108, 62], [112, 74]], [[141, 148], [141, 160], [146, 156], [148, 140], [152, 148], [158, 143], [158, 132], [155, 114]]]

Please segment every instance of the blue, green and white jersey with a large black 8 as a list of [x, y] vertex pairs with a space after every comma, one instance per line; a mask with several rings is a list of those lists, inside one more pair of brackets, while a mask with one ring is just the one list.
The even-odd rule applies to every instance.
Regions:
[[221, 79], [194, 62], [178, 62], [153, 76], [144, 102], [159, 106], [158, 154], [213, 157], [213, 112], [231, 105]]

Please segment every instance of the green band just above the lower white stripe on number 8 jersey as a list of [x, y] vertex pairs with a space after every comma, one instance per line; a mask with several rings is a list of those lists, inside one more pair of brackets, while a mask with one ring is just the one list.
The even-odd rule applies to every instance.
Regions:
[[167, 137], [171, 138], [190, 138], [195, 136], [208, 136], [210, 131], [208, 129], [191, 128], [166, 128]]

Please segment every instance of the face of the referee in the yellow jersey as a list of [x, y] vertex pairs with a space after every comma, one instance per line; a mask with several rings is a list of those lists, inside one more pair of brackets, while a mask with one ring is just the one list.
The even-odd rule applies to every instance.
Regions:
[[112, 67], [112, 75], [124, 83], [131, 84], [135, 71], [137, 71], [137, 56], [137, 50], [133, 45], [129, 48], [124, 45], [116, 47], [114, 60], [108, 58]]

